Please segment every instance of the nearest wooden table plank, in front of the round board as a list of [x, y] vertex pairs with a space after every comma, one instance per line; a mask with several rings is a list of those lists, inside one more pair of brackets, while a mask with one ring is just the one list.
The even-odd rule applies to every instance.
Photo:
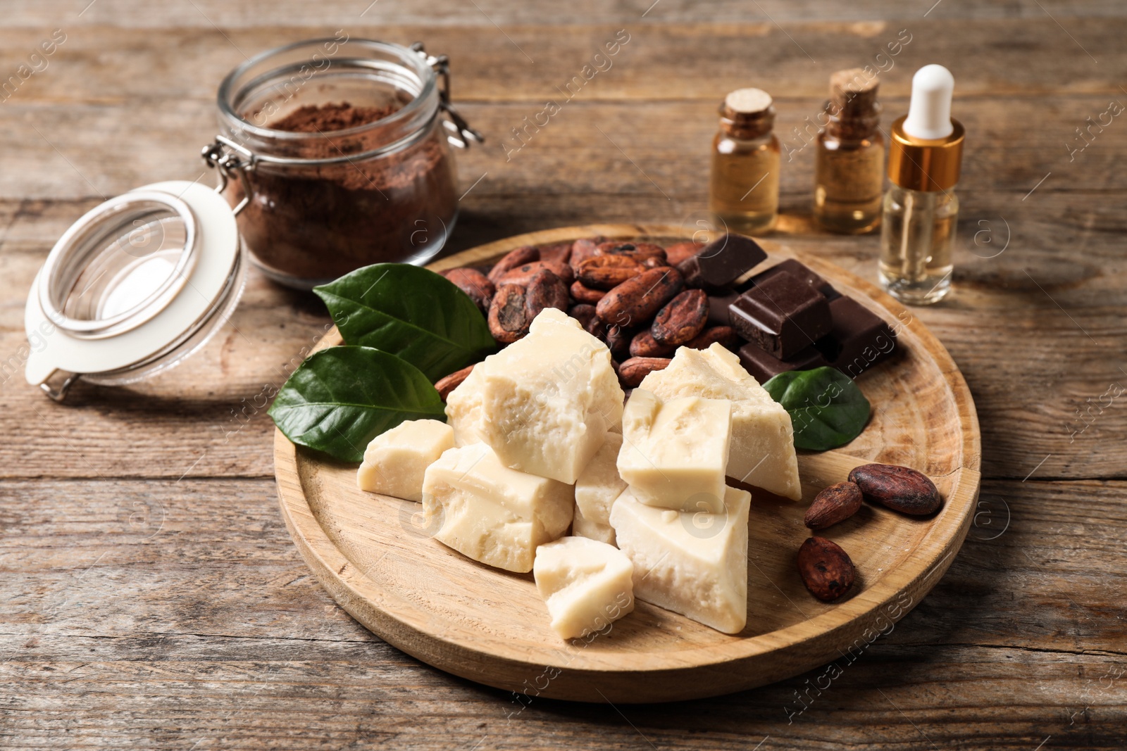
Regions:
[[660, 749], [1028, 751], [1047, 735], [1118, 749], [1127, 722], [1127, 576], [1109, 557], [1124, 482], [985, 482], [993, 517], [948, 573], [790, 723], [826, 669], [619, 707], [629, 722], [452, 679], [331, 601], [273, 479], [0, 481], [0, 495], [5, 748], [648, 748], [641, 733]]

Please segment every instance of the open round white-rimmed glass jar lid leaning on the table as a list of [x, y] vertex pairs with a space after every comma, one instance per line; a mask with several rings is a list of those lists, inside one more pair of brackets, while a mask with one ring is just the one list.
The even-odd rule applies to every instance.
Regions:
[[110, 198], [63, 233], [32, 284], [27, 381], [61, 400], [78, 377], [124, 384], [170, 368], [230, 316], [243, 276], [234, 213], [213, 189], [169, 181]]

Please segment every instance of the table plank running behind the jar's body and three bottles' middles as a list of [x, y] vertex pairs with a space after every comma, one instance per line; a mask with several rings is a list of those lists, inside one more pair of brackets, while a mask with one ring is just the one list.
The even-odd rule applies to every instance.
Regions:
[[[468, 198], [474, 199], [522, 193], [545, 198], [588, 193], [645, 195], [666, 202], [666, 212], [678, 204], [704, 208], [708, 150], [722, 96], [720, 89], [699, 101], [577, 99], [542, 128], [526, 124], [544, 109], [541, 100], [464, 104], [461, 110], [487, 142], [458, 154], [463, 190], [473, 186]], [[1120, 96], [1127, 102], [1127, 96]], [[1024, 97], [956, 102], [956, 114], [973, 134], [961, 187], [1013, 191], [1021, 198], [1051, 172], [1038, 191], [1127, 188], [1127, 176], [1106, 168], [1109, 154], [1127, 149], [1127, 128], [1108, 128], [1085, 151], [1070, 152], [1083, 144], [1075, 128], [1107, 110], [1108, 95], [1055, 97], [1053, 101], [1048, 110], [1042, 100]], [[820, 106], [822, 98], [775, 105], [775, 133], [786, 150], [780, 176], [783, 193], [808, 196], [811, 190], [814, 147], [808, 144], [816, 131], [804, 118], [813, 122]], [[905, 110], [907, 101], [886, 99], [885, 106]], [[0, 149], [9, 169], [0, 175], [0, 197], [101, 198], [160, 179], [213, 182], [198, 150], [215, 136], [214, 117], [204, 102], [165, 99], [143, 107], [139, 115], [143, 126], [123, 128], [121, 105], [6, 105], [0, 107]], [[1027, 129], [1026, 124], [1035, 119], [1039, 126]], [[513, 128], [523, 135], [513, 135]], [[1017, 132], [1021, 137], [1011, 140]], [[130, 144], [131, 159], [122, 158], [123, 141]], [[996, 143], [1006, 147], [994, 147]]]

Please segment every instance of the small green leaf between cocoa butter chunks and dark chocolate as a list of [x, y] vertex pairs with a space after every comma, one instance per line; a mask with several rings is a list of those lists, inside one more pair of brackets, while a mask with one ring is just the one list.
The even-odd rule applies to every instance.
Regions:
[[837, 448], [860, 436], [869, 421], [869, 400], [835, 368], [780, 373], [763, 387], [790, 413], [796, 448]]

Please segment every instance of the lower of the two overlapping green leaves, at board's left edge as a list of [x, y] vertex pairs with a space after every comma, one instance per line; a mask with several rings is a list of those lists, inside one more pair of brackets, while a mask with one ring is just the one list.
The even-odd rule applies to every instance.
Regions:
[[414, 365], [371, 347], [313, 352], [285, 382], [269, 415], [285, 437], [345, 462], [405, 420], [446, 421], [438, 391]]

